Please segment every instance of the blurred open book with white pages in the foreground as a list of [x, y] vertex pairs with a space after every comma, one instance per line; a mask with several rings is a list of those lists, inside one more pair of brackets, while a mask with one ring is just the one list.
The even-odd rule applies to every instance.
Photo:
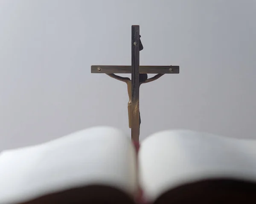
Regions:
[[[256, 141], [112, 127], [0, 153], [0, 204], [256, 203]], [[250, 202], [248, 202], [250, 201]]]

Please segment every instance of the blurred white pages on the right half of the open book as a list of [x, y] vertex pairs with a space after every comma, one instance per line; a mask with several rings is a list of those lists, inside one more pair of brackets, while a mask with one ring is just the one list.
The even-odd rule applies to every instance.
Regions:
[[145, 139], [139, 152], [139, 175], [145, 198], [204, 178], [256, 181], [256, 141], [189, 130], [169, 130]]

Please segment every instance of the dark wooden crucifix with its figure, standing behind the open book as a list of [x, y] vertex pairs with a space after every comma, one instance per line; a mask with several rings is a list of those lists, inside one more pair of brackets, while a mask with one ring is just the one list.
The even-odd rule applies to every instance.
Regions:
[[[140, 109], [139, 109], [139, 91], [140, 85], [152, 82], [163, 74], [179, 74], [179, 66], [140, 66], [140, 51], [143, 45], [140, 41], [140, 26], [131, 26], [131, 66], [116, 65], [92, 65], [91, 73], [105, 73], [108, 76], [123, 81], [128, 88], [128, 120], [131, 128], [131, 139], [139, 142], [140, 136]], [[131, 74], [128, 77], [120, 77], [116, 74]], [[148, 79], [147, 74], [157, 74]]]

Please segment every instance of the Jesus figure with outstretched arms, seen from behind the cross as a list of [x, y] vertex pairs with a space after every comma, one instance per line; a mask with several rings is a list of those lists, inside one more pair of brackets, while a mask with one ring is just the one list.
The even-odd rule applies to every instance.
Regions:
[[[107, 74], [108, 76], [117, 79], [119, 81], [125, 82], [127, 84], [127, 90], [128, 90], [128, 96], [129, 96], [129, 101], [128, 101], [128, 119], [129, 119], [129, 127], [131, 128], [131, 118], [132, 118], [132, 109], [131, 109], [131, 79], [128, 77], [120, 77], [116, 74]], [[151, 77], [148, 79], [148, 74], [140, 74], [140, 85], [148, 82], [152, 82], [156, 79], [159, 79], [162, 77], [163, 74], [157, 74], [154, 77]], [[139, 111], [140, 113], [140, 111]], [[140, 119], [141, 123], [141, 119]]]

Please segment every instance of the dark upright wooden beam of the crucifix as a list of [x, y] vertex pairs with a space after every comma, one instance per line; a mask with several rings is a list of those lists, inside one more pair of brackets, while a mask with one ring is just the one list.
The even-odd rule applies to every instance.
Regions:
[[140, 98], [140, 26], [131, 26], [131, 139], [139, 142], [139, 98]]

